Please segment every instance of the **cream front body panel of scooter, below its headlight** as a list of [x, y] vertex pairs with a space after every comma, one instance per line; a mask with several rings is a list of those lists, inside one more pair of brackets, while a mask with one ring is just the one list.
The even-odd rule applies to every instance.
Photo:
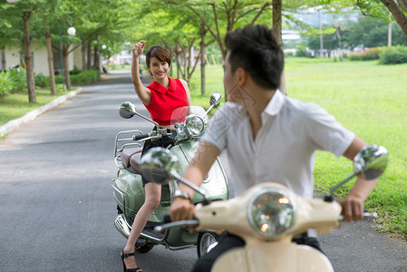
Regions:
[[329, 259], [315, 248], [296, 243], [268, 242], [229, 250], [218, 258], [211, 271], [334, 272], [334, 268]]

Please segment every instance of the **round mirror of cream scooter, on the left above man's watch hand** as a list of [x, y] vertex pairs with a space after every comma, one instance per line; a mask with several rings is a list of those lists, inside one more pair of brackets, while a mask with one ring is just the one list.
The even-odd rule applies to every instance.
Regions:
[[177, 156], [164, 148], [152, 148], [141, 157], [141, 175], [150, 182], [166, 184], [178, 169]]

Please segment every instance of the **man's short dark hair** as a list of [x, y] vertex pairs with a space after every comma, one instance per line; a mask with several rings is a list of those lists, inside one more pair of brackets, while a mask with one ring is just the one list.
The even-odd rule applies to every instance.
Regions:
[[284, 69], [284, 52], [271, 28], [247, 24], [225, 36], [232, 73], [242, 67], [259, 86], [276, 90]]

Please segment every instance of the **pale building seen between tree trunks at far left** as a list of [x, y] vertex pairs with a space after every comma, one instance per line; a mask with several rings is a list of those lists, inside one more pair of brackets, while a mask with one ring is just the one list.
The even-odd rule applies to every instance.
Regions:
[[[31, 44], [31, 50], [33, 55], [33, 68], [34, 73], [43, 73], [49, 76], [48, 69], [48, 55], [46, 53], [45, 44], [39, 44], [33, 42]], [[2, 67], [2, 54], [0, 54], [0, 70], [8, 70], [17, 65], [24, 67], [24, 51], [22, 52], [18, 47], [5, 47], [5, 66]], [[81, 47], [78, 46], [72, 53], [68, 55], [68, 68], [73, 70], [73, 67], [82, 68], [82, 53]], [[53, 69], [55, 73], [61, 73], [61, 55], [60, 53], [53, 53]]]

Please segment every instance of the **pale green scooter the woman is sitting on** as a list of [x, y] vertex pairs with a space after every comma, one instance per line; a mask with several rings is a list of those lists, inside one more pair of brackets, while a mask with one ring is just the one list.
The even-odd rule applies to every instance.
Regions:
[[[189, 165], [189, 161], [193, 159], [199, 145], [199, 138], [206, 130], [208, 112], [218, 107], [220, 99], [221, 95], [214, 92], [210, 97], [210, 108], [207, 112], [199, 106], [176, 109], [171, 118], [171, 125], [177, 131], [176, 135], [166, 129], [160, 129], [158, 123], [137, 112], [131, 102], [121, 104], [119, 109], [121, 117], [131, 118], [137, 115], [155, 125], [155, 130], [147, 134], [134, 130], [121, 131], [116, 135], [114, 160], [119, 170], [117, 177], [111, 180], [111, 186], [119, 215], [114, 221], [114, 226], [125, 238], [129, 238], [132, 222], [145, 198], [140, 170], [143, 142], [172, 137], [175, 144], [167, 149], [179, 159], [181, 175]], [[185, 228], [170, 228], [164, 233], [154, 230], [155, 227], [164, 224], [164, 216], [168, 214], [176, 189], [178, 189], [178, 180], [170, 180], [168, 184], [162, 185], [160, 205], [152, 212], [146, 227], [142, 230], [135, 247], [137, 251], [147, 253], [156, 245], [163, 245], [171, 250], [197, 247], [198, 257], [201, 257], [211, 245], [217, 242], [218, 235], [214, 232], [189, 233]], [[212, 165], [201, 189], [206, 191], [210, 200], [229, 198], [228, 180], [220, 160], [216, 160]], [[202, 200], [202, 197], [197, 194], [192, 202], [199, 203]]]

